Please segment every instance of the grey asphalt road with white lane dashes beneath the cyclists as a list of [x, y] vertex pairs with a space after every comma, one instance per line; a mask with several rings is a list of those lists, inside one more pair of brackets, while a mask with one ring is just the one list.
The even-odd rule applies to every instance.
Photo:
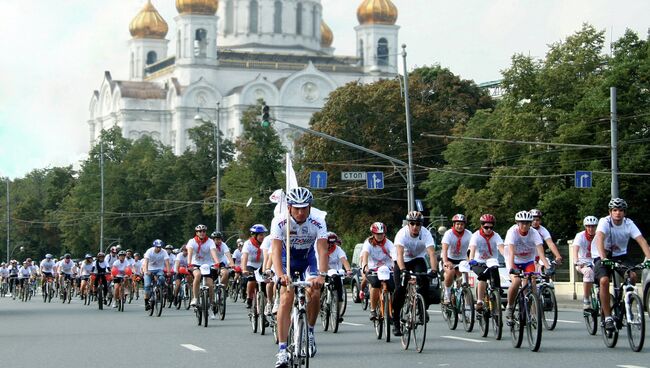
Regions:
[[[230, 302], [230, 300], [229, 300]], [[70, 305], [27, 303], [0, 298], [0, 359], [13, 367], [67, 366], [86, 362], [91, 367], [273, 367], [277, 352], [272, 335], [253, 334], [242, 303], [228, 305], [224, 321], [196, 326], [190, 311], [165, 309], [162, 317], [145, 315], [141, 301], [100, 311], [79, 300]], [[640, 353], [630, 350], [623, 331], [616, 348], [604, 346], [602, 336], [589, 336], [582, 312], [560, 311], [555, 331], [544, 331], [542, 348], [534, 353], [512, 347], [504, 339], [481, 338], [474, 332], [450, 331], [431, 306], [427, 341], [421, 354], [402, 350], [398, 339], [379, 341], [359, 304], [350, 304], [339, 332], [316, 326], [318, 355], [312, 367], [480, 367], [521, 364], [535, 367], [650, 367], [650, 342]], [[267, 329], [267, 333], [269, 330]], [[646, 333], [647, 335], [647, 333]], [[84, 364], [86, 365], [86, 364]]]

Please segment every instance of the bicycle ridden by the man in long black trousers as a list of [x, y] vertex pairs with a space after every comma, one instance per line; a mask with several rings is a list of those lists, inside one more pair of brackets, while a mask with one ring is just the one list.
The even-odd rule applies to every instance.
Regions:
[[402, 326], [402, 348], [408, 350], [411, 336], [415, 344], [415, 351], [421, 353], [424, 349], [424, 342], [427, 338], [427, 310], [424, 297], [417, 291], [418, 277], [429, 277], [426, 272], [409, 272], [404, 271], [402, 274], [402, 284], [406, 282], [406, 299], [400, 321]]

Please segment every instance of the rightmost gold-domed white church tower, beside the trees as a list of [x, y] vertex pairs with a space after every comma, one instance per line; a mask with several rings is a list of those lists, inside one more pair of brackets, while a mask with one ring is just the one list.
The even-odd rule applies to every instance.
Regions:
[[364, 72], [397, 74], [397, 7], [390, 0], [364, 0], [357, 9], [357, 57]]

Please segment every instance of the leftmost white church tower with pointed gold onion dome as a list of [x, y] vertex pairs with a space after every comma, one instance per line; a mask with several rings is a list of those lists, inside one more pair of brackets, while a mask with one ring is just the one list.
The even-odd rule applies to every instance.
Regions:
[[167, 57], [168, 26], [160, 13], [151, 4], [151, 0], [140, 10], [129, 25], [131, 32], [131, 49], [129, 79], [142, 80], [144, 69]]

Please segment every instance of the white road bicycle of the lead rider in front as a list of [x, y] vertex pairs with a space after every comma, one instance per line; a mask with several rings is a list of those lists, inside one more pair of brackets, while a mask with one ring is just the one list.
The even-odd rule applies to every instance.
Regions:
[[[294, 276], [296, 279], [298, 275]], [[292, 281], [294, 289], [291, 324], [289, 325], [290, 367], [309, 367], [309, 332], [307, 327], [307, 295], [305, 289], [311, 287], [310, 281]]]

